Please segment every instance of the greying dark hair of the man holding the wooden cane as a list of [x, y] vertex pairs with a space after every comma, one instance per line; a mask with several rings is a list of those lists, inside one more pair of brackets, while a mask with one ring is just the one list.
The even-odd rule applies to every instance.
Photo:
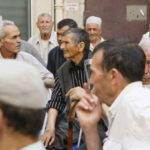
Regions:
[[80, 42], [85, 43], [84, 47], [84, 52], [88, 53], [89, 52], [89, 47], [90, 47], [90, 39], [89, 39], [89, 34], [81, 29], [81, 28], [72, 28], [63, 33], [63, 36], [67, 34], [72, 34], [72, 38], [74, 40], [74, 44], [77, 45]]

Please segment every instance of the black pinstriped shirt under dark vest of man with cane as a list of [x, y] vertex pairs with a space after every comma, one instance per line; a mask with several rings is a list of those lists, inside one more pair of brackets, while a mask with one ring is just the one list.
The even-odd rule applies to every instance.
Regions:
[[[72, 67], [70, 69], [72, 85], [73, 85], [72, 88], [77, 87], [77, 86], [83, 87], [83, 84], [85, 82], [87, 82], [85, 72], [84, 72], [84, 60], [85, 60], [85, 58], [83, 58], [81, 60], [79, 65], [75, 65], [72, 62]], [[62, 95], [63, 93], [62, 93], [62, 89], [61, 89], [59, 80], [60, 79], [56, 73], [55, 87], [54, 87], [54, 91], [52, 93], [51, 100], [48, 101], [48, 103], [47, 103], [47, 109], [55, 108], [58, 111], [62, 112], [66, 106], [66, 101], [63, 98], [63, 95]]]

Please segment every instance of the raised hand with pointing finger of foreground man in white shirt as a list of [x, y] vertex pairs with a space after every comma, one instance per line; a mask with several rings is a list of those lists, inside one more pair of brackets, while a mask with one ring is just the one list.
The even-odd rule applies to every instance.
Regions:
[[85, 84], [84, 89], [86, 93], [76, 106], [77, 117], [83, 130], [97, 126], [102, 114], [101, 103], [97, 96], [92, 94], [87, 84]]

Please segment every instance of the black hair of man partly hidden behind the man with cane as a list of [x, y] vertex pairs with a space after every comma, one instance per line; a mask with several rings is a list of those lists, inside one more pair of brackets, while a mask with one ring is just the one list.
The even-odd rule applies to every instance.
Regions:
[[61, 29], [64, 26], [69, 26], [69, 28], [77, 28], [78, 25], [73, 19], [63, 19], [57, 24], [57, 28]]

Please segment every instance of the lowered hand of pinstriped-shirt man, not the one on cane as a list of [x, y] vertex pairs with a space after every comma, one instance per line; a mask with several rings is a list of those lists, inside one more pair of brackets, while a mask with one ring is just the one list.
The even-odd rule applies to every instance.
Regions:
[[47, 129], [40, 137], [40, 140], [43, 142], [45, 147], [53, 144], [55, 141], [55, 129]]

